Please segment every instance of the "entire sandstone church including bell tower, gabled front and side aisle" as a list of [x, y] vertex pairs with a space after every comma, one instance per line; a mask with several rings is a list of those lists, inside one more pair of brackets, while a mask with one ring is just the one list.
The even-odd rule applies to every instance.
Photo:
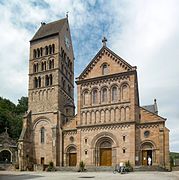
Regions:
[[42, 23], [30, 41], [29, 104], [19, 165], [169, 166], [169, 130], [157, 103], [140, 106], [137, 68], [103, 46], [76, 78], [68, 18]]

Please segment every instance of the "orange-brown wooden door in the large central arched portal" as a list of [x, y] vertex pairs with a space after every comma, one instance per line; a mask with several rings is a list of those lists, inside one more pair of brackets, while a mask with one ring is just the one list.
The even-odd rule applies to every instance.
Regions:
[[100, 166], [112, 165], [112, 150], [111, 148], [100, 148]]

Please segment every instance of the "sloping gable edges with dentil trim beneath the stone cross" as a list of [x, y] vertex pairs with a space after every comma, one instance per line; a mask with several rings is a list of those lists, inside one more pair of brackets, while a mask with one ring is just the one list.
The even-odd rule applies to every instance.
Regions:
[[119, 59], [121, 62], [123, 62], [128, 68], [132, 69], [133, 66], [131, 66], [129, 63], [127, 63], [124, 59], [122, 59], [121, 57], [119, 57], [116, 53], [114, 53], [113, 51], [111, 51], [109, 48], [107, 48], [106, 46], [103, 46], [99, 52], [96, 54], [96, 56], [91, 60], [91, 62], [87, 65], [87, 67], [83, 70], [83, 72], [79, 75], [79, 79], [82, 78], [82, 76], [88, 71], [88, 69], [93, 65], [94, 61], [97, 59], [97, 57], [103, 52], [103, 50], [107, 50], [110, 54], [112, 54], [114, 57], [116, 57], [117, 59]]

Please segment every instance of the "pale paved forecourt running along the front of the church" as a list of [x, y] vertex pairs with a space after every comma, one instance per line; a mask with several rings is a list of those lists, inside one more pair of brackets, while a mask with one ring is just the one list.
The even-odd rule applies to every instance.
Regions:
[[8, 172], [0, 171], [0, 180], [179, 180], [178, 172]]

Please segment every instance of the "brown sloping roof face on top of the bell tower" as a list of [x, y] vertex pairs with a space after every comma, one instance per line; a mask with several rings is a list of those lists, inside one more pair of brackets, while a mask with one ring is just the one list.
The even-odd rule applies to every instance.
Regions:
[[54, 22], [51, 22], [48, 24], [42, 23], [41, 27], [35, 33], [34, 37], [31, 39], [31, 41], [59, 33], [66, 20], [67, 20], [67, 18], [63, 18], [63, 19], [60, 19], [58, 21], [54, 21]]

